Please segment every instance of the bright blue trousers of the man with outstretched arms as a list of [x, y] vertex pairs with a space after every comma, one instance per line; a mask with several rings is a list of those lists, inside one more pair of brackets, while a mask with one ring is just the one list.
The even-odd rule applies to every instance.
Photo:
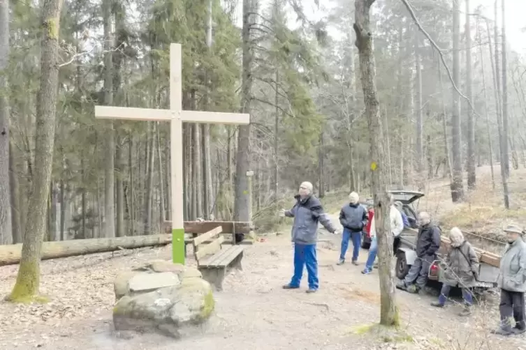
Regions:
[[290, 283], [291, 287], [300, 287], [303, 266], [307, 266], [309, 289], [318, 289], [318, 260], [315, 244], [294, 243], [294, 275]]

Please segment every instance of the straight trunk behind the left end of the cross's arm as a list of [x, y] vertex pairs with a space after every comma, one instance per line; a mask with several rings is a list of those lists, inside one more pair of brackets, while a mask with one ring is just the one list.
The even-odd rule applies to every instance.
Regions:
[[[113, 0], [103, 1], [104, 21], [104, 105], [113, 103], [113, 64], [112, 64], [112, 4]], [[105, 169], [104, 169], [104, 236], [115, 237], [115, 132], [113, 121], [106, 121], [105, 128]]]

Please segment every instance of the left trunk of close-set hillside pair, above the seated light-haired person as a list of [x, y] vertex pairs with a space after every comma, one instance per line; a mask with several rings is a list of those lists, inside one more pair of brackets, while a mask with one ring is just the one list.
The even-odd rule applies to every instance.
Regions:
[[[453, 0], [453, 82], [460, 86], [460, 9], [459, 3]], [[453, 182], [451, 183], [451, 199], [453, 202], [462, 201], [464, 197], [464, 184], [462, 181], [462, 155], [460, 138], [460, 96], [453, 89], [453, 110], [451, 111], [451, 135], [453, 151]]]

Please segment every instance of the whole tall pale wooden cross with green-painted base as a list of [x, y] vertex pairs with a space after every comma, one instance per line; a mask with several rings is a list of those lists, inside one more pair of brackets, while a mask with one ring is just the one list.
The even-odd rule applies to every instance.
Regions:
[[172, 181], [173, 262], [184, 264], [182, 122], [248, 124], [249, 114], [182, 110], [181, 45], [170, 44], [170, 109], [95, 106], [100, 119], [170, 121], [170, 178]]

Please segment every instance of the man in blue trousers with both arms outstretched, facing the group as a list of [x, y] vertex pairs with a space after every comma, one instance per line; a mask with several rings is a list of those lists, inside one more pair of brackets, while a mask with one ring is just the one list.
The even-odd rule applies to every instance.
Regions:
[[330, 233], [337, 234], [337, 229], [323, 212], [319, 199], [312, 195], [312, 183], [300, 185], [299, 194], [294, 197], [296, 203], [291, 210], [282, 209], [280, 215], [294, 218], [291, 236], [294, 245], [294, 275], [284, 289], [300, 288], [303, 267], [307, 267], [309, 289], [307, 293], [318, 290], [318, 261], [316, 260], [316, 243], [318, 241], [318, 223]]

